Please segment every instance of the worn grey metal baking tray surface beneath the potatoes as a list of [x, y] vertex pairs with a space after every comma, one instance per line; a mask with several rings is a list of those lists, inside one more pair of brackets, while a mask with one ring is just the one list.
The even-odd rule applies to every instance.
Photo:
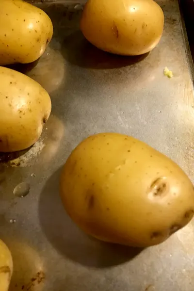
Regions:
[[[114, 246], [82, 233], [58, 193], [71, 150], [100, 131], [145, 141], [194, 181], [194, 90], [178, 0], [158, 0], [165, 14], [162, 40], [136, 58], [88, 44], [79, 31], [80, 6], [72, 3], [38, 4], [53, 21], [54, 37], [35, 67], [19, 68], [48, 90], [52, 115], [42, 143], [20, 165], [0, 163], [0, 238], [14, 258], [10, 291], [193, 291], [194, 221], [155, 247]], [[174, 78], [163, 76], [165, 66]], [[14, 195], [20, 182], [30, 185], [23, 198]], [[45, 280], [32, 286], [39, 271]]]

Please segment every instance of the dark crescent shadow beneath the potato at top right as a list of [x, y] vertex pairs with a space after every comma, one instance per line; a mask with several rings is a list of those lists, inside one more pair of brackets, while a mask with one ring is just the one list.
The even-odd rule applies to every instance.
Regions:
[[62, 44], [62, 54], [69, 63], [86, 68], [114, 69], [134, 65], [149, 53], [139, 56], [120, 56], [97, 49], [90, 44], [81, 31], [66, 36]]

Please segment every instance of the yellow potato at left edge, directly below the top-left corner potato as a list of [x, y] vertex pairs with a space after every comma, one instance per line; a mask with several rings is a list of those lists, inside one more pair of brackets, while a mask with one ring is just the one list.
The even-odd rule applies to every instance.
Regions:
[[49, 118], [49, 94], [31, 78], [0, 67], [0, 102], [0, 152], [32, 146]]

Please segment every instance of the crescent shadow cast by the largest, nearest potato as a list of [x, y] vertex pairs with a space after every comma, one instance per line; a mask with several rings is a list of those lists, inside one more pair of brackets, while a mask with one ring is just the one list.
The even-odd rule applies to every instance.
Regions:
[[61, 169], [47, 181], [39, 200], [39, 219], [49, 242], [62, 255], [81, 265], [105, 268], [124, 263], [142, 249], [100, 242], [87, 236], [66, 214], [59, 195]]

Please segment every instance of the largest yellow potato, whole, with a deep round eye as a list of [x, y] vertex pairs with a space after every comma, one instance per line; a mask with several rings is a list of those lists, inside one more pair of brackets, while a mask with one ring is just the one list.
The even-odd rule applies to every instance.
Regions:
[[73, 150], [61, 197], [86, 233], [131, 246], [163, 242], [194, 215], [194, 187], [179, 166], [118, 133], [91, 136]]

